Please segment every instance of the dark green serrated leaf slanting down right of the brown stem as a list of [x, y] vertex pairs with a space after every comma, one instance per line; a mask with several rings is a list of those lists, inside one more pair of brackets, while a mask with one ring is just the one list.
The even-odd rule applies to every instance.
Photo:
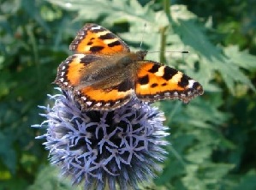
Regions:
[[[181, 35], [185, 45], [190, 46], [193, 51], [199, 54], [199, 72], [203, 72], [200, 74], [202, 78], [205, 72], [218, 71], [233, 94], [235, 94], [235, 82], [241, 82], [255, 90], [251, 81], [233, 62], [233, 58], [230, 58], [232, 55], [224, 56], [220, 48], [211, 44], [205, 35], [205, 29], [199, 27], [195, 19], [189, 16], [187, 9], [174, 6], [171, 10], [172, 17], [175, 18], [172, 26], [174, 31]], [[186, 17], [186, 15], [188, 16]], [[205, 74], [205, 76], [207, 77], [209, 74]]]

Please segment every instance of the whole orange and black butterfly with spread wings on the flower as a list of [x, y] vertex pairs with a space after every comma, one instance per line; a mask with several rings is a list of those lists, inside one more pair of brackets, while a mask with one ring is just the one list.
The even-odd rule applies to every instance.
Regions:
[[144, 60], [147, 51], [130, 51], [104, 27], [88, 23], [69, 45], [74, 54], [57, 68], [55, 83], [72, 92], [82, 110], [115, 110], [137, 97], [141, 101], [180, 99], [203, 94], [199, 82], [175, 68]]

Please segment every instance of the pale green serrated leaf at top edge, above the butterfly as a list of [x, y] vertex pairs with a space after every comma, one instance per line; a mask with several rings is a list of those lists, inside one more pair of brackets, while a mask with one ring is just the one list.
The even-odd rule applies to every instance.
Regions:
[[[102, 17], [104, 23], [108, 25], [118, 21], [129, 21], [134, 24], [152, 22], [155, 20], [152, 9], [146, 5], [142, 7], [136, 0], [132, 1], [83, 1], [74, 0], [72, 2], [64, 0], [48, 0], [64, 9], [76, 10], [79, 13], [78, 20], [97, 20]], [[100, 6], [99, 6], [100, 5]], [[84, 7], [85, 9], [80, 9]], [[143, 25], [142, 25], [143, 26]]]

